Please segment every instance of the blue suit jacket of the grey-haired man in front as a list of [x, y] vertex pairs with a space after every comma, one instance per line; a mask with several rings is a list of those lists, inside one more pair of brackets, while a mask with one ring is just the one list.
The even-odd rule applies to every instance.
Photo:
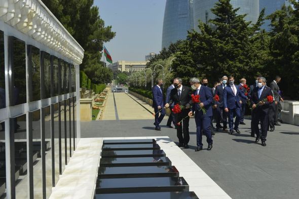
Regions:
[[[197, 91], [194, 91], [194, 95], [196, 95]], [[199, 111], [196, 114], [203, 115], [204, 117], [211, 117], [213, 115], [212, 111], [212, 104], [213, 104], [213, 95], [211, 92], [211, 88], [201, 86], [199, 90], [199, 95], [200, 95], [200, 101], [204, 104], [204, 107], [206, 109], [206, 114], [203, 114], [203, 111]], [[192, 104], [192, 111], [199, 110], [200, 106], [198, 103], [193, 103]]]

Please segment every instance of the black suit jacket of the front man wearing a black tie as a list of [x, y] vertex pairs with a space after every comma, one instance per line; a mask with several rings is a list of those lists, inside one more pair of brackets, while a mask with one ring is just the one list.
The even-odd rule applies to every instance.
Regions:
[[182, 86], [180, 97], [178, 97], [177, 89], [172, 89], [170, 92], [170, 99], [168, 101], [168, 104], [174, 103], [182, 106], [191, 106], [191, 95], [192, 91], [189, 87]]

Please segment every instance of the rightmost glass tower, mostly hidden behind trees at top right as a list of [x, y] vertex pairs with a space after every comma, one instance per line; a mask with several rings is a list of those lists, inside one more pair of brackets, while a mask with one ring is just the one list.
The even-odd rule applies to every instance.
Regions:
[[[288, 0], [259, 0], [259, 12], [265, 8], [265, 16], [268, 16], [274, 13], [276, 10], [281, 9], [283, 5], [289, 6], [290, 3]], [[271, 27], [269, 26], [271, 21], [265, 20], [265, 23], [261, 28], [269, 31]]]

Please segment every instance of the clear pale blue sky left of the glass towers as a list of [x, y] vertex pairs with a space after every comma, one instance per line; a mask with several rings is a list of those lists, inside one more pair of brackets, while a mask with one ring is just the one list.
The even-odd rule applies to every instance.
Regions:
[[105, 43], [113, 62], [144, 61], [150, 52], [159, 53], [166, 0], [94, 0], [105, 26], [116, 36]]

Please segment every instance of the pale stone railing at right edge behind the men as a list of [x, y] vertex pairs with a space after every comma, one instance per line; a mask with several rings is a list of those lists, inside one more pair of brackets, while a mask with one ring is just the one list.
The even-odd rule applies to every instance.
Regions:
[[280, 102], [282, 106], [281, 120], [283, 123], [299, 126], [299, 101]]

